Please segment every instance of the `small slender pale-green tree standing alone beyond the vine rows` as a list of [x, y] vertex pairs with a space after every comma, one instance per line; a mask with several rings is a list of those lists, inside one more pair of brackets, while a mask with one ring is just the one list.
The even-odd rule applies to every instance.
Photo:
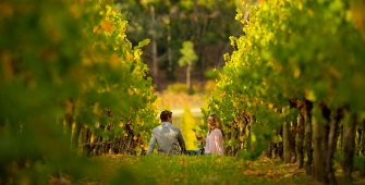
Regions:
[[182, 57], [179, 59], [178, 63], [180, 66], [186, 66], [186, 88], [192, 91], [191, 84], [191, 71], [192, 65], [197, 61], [197, 55], [194, 51], [194, 44], [192, 41], [184, 41], [182, 49], [180, 49]]

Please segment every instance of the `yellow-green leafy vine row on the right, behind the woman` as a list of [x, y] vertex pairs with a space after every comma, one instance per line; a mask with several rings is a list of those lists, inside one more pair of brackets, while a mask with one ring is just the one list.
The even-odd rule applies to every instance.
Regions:
[[[287, 135], [294, 146], [306, 139], [307, 173], [312, 164], [323, 168], [313, 172], [316, 180], [329, 183], [333, 145], [344, 153], [342, 168], [351, 178], [354, 140], [363, 138], [364, 123], [365, 14], [357, 10], [363, 5], [355, 0], [278, 0], [252, 7], [248, 18], [238, 11], [242, 34], [230, 37], [234, 51], [216, 71], [217, 88], [208, 100], [208, 111], [226, 123], [228, 155], [240, 148], [239, 156], [256, 159], [277, 135]], [[341, 133], [345, 149], [336, 145]], [[302, 140], [296, 134], [303, 134]], [[316, 163], [325, 159], [326, 171]]]

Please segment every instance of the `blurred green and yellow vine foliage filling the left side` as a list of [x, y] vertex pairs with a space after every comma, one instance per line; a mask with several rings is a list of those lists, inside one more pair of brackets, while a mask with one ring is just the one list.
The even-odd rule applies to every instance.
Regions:
[[131, 149], [146, 148], [157, 124], [141, 60], [148, 40], [132, 48], [126, 22], [108, 3], [1, 2], [0, 184], [96, 175], [98, 165], [76, 156], [85, 128], [112, 143], [127, 125], [138, 141]]

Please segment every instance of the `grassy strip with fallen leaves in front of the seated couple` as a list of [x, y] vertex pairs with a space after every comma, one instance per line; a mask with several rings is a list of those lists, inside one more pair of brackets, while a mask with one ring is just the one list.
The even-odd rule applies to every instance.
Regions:
[[[266, 158], [243, 161], [219, 156], [107, 156], [115, 178], [106, 184], [314, 184], [303, 170]], [[104, 183], [101, 183], [104, 184]]]

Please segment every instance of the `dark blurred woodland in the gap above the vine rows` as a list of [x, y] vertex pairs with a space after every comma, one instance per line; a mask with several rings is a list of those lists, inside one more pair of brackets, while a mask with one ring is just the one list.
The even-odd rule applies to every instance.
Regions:
[[[194, 44], [199, 60], [192, 77], [204, 81], [207, 69], [224, 64], [222, 54], [231, 51], [229, 36], [239, 36], [242, 26], [231, 22], [238, 8], [236, 0], [117, 0], [119, 10], [129, 21], [126, 35], [133, 45], [147, 37], [149, 46], [143, 59], [150, 67], [154, 86], [160, 90], [163, 77], [177, 79], [175, 67], [181, 57], [179, 49], [184, 40]], [[154, 9], [151, 9], [154, 8]], [[193, 75], [199, 72], [199, 76]], [[166, 75], [163, 75], [166, 73]]]

